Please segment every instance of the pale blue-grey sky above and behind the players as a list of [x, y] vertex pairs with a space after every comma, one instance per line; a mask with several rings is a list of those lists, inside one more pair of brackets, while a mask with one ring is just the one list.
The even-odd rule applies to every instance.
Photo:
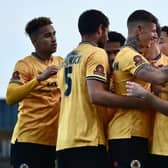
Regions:
[[54, 22], [58, 49], [55, 55], [65, 56], [80, 42], [77, 29], [79, 15], [87, 9], [102, 10], [110, 20], [110, 30], [127, 36], [126, 20], [136, 9], [145, 9], [168, 25], [167, 0], [0, 0], [0, 98], [17, 60], [33, 51], [24, 32], [34, 17], [47, 16]]

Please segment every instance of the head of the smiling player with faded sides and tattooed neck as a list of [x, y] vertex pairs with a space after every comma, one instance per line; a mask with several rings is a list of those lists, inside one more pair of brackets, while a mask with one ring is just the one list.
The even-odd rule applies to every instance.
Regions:
[[157, 36], [158, 19], [145, 10], [134, 11], [127, 20], [128, 34], [136, 37], [139, 47], [149, 47]]

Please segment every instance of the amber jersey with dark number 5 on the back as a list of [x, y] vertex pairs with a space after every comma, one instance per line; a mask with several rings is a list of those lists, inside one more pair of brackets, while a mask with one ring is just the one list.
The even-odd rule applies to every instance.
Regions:
[[105, 51], [89, 43], [81, 43], [65, 58], [58, 73], [62, 99], [57, 150], [105, 144], [102, 108], [90, 102], [87, 80], [106, 82], [107, 71]]

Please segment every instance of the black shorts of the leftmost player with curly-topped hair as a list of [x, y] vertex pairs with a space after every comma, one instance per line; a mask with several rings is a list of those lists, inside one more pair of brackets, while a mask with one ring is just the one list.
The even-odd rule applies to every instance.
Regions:
[[55, 146], [21, 142], [11, 144], [13, 168], [55, 168], [55, 160]]

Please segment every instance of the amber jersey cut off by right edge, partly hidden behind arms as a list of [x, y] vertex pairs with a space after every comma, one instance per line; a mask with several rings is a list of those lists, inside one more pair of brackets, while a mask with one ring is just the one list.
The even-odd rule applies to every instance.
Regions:
[[[157, 67], [168, 65], [168, 57], [161, 54], [161, 57], [154, 64]], [[159, 95], [162, 99], [168, 100], [168, 85], [162, 88]], [[157, 112], [154, 121], [152, 149], [153, 154], [168, 156], [168, 116]]]

